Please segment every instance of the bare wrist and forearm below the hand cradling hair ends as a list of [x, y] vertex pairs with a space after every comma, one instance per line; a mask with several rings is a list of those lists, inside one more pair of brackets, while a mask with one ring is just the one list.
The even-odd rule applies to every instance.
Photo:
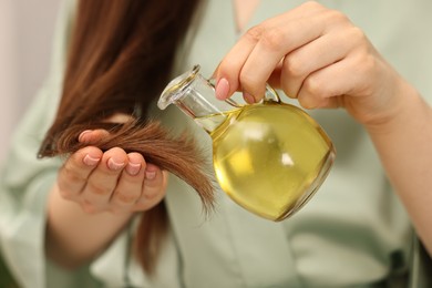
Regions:
[[64, 199], [56, 185], [48, 203], [47, 255], [73, 268], [103, 251], [131, 220], [133, 213], [85, 213], [76, 202]]

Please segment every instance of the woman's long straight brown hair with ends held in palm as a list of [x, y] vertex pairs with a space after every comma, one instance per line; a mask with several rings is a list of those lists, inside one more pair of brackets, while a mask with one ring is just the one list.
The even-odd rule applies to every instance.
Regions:
[[[187, 136], [169, 136], [146, 116], [150, 103], [169, 78], [176, 50], [198, 2], [81, 0], [60, 106], [39, 156], [69, 155], [83, 147], [78, 142], [82, 131], [106, 128], [110, 136], [96, 146], [142, 153], [147, 162], [194, 187], [208, 210], [214, 199], [213, 184], [200, 152]], [[127, 113], [134, 120], [104, 122], [115, 113]], [[143, 213], [135, 255], [148, 274], [154, 271], [166, 228], [164, 202]]]

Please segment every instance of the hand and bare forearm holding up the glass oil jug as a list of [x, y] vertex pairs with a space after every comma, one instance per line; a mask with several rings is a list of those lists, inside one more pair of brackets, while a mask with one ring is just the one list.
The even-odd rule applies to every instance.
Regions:
[[[403, 41], [403, 40], [401, 40]], [[250, 29], [223, 59], [216, 96], [259, 101], [266, 82], [307, 107], [344, 107], [366, 130], [432, 255], [432, 109], [347, 17], [307, 2]]]

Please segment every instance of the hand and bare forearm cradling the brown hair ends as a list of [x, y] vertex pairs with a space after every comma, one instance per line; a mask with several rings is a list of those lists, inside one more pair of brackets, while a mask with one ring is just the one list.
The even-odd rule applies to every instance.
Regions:
[[107, 133], [81, 133], [79, 141], [89, 146], [65, 161], [50, 193], [47, 254], [64, 267], [94, 258], [135, 212], [151, 209], [165, 196], [167, 173], [140, 153], [92, 146]]

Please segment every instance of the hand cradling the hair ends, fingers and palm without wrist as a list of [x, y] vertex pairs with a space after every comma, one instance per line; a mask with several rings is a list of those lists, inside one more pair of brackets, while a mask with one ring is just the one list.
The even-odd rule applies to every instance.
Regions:
[[89, 146], [72, 154], [60, 168], [60, 195], [84, 212], [134, 213], [147, 210], [165, 196], [167, 173], [146, 163], [140, 153], [91, 146], [106, 131], [84, 131], [79, 141]]

